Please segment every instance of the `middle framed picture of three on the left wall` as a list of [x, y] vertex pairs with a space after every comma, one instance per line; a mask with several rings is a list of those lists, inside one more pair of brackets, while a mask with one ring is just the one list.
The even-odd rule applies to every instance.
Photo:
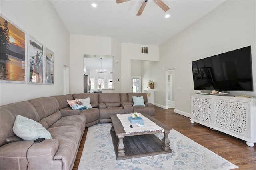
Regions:
[[44, 46], [33, 37], [28, 38], [29, 83], [44, 83]]

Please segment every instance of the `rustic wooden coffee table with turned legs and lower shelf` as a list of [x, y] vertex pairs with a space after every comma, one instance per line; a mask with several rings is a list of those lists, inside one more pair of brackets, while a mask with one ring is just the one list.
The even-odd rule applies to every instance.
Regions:
[[163, 139], [160, 140], [154, 135], [154, 133], [160, 133], [159, 131], [134, 132], [126, 134], [124, 127], [122, 126], [122, 123], [118, 117], [116, 115], [110, 115], [112, 120], [112, 128], [110, 130], [110, 134], [117, 160], [139, 158], [142, 156], [151, 156], [172, 152], [169, 145], [170, 140], [168, 138], [168, 134], [172, 128], [164, 125], [149, 115], [142, 115], [164, 129]]

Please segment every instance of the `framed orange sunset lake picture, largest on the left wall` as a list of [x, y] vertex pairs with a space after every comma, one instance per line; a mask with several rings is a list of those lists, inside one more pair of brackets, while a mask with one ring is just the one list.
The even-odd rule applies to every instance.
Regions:
[[0, 23], [0, 80], [26, 83], [26, 34], [4, 16], [1, 16]]

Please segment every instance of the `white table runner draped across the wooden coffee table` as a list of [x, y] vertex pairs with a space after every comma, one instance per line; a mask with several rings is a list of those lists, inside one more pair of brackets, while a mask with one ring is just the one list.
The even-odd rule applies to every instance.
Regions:
[[[138, 125], [136, 125], [136, 123], [130, 123], [130, 121], [128, 119], [128, 117], [130, 115], [131, 114], [121, 114], [121, 115], [116, 114], [118, 119], [121, 121], [126, 134], [131, 134], [134, 132], [152, 132], [152, 131], [157, 131], [157, 130], [159, 130], [159, 132], [164, 132], [163, 128], [156, 125], [156, 123], [150, 121], [148, 118], [144, 117], [143, 115], [141, 115], [140, 117], [143, 119], [144, 124], [147, 126], [138, 127]], [[132, 125], [133, 128], [131, 128], [130, 125]]]

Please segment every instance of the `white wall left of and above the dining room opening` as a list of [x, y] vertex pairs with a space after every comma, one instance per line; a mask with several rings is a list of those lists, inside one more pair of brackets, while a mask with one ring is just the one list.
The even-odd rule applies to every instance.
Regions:
[[[70, 93], [84, 93], [84, 54], [111, 55], [111, 38], [70, 35]], [[90, 66], [87, 66], [90, 67]]]

